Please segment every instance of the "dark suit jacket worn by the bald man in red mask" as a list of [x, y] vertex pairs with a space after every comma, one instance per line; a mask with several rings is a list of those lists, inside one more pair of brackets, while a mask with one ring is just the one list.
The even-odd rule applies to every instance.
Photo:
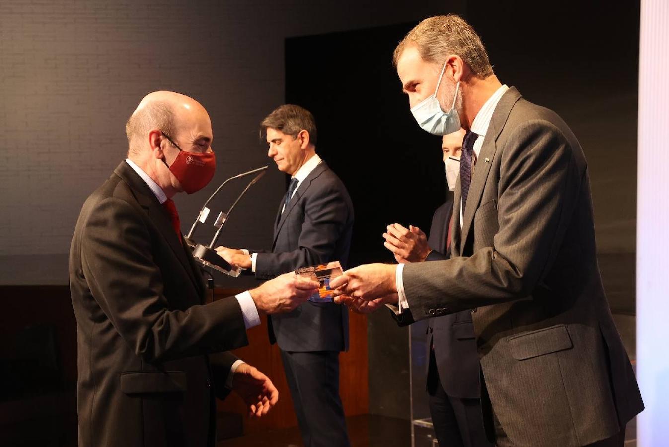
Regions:
[[213, 446], [215, 402], [248, 343], [235, 298], [205, 288], [167, 211], [125, 162], [88, 199], [70, 248], [79, 445]]

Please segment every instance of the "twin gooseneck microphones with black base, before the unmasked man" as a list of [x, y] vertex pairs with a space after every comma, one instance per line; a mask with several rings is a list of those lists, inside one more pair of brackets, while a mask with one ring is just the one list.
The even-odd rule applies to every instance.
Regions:
[[[260, 167], [258, 169], [253, 169], [252, 171], [247, 171], [245, 173], [237, 174], [233, 177], [230, 177], [229, 179], [225, 180], [219, 187], [216, 188], [215, 191], [213, 191], [213, 194], [209, 196], [209, 199], [205, 201], [204, 205], [200, 208], [200, 211], [197, 215], [197, 218], [193, 222], [193, 225], [191, 226], [191, 230], [188, 232], [188, 236], [185, 236], [184, 240], [186, 244], [188, 244], [189, 247], [193, 249], [193, 258], [199, 264], [202, 264], [203, 266], [211, 267], [214, 268], [215, 270], [218, 270], [219, 272], [223, 272], [225, 274], [228, 274], [230, 276], [240, 276], [240, 273], [242, 270], [240, 268], [233, 268], [226, 260], [221, 258], [216, 253], [216, 250], [214, 250], [212, 247], [216, 244], [216, 241], [218, 239], [219, 234], [221, 234], [221, 230], [223, 229], [223, 226], [225, 225], [225, 222], [227, 221], [227, 218], [229, 217], [231, 211], [234, 209], [235, 205], [237, 205], [237, 202], [242, 199], [246, 191], [256, 183], [258, 180], [260, 180], [260, 177], [265, 175], [267, 166]], [[209, 245], [202, 245], [202, 244], [196, 244], [195, 240], [193, 240], [193, 233], [195, 232], [195, 228], [197, 227], [197, 224], [204, 224], [205, 221], [207, 220], [207, 216], [209, 215], [209, 208], [207, 205], [213, 199], [213, 197], [218, 193], [218, 191], [221, 190], [221, 188], [229, 181], [234, 180], [234, 179], [240, 179], [242, 177], [246, 177], [247, 175], [252, 175], [258, 173], [256, 177], [254, 177], [248, 185], [246, 185], [246, 188], [244, 188], [244, 191], [237, 197], [237, 199], [232, 203], [232, 205], [229, 207], [227, 210], [227, 213], [224, 213], [223, 211], [220, 211], [213, 223], [213, 226], [215, 226], [216, 233], [213, 236], [213, 239], [211, 242], [209, 242]]]

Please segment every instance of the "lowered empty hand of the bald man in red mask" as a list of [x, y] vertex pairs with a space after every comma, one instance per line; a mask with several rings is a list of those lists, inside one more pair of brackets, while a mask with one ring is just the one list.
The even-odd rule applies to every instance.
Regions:
[[279, 391], [269, 377], [248, 363], [237, 367], [232, 389], [244, 399], [252, 417], [266, 415], [279, 400]]

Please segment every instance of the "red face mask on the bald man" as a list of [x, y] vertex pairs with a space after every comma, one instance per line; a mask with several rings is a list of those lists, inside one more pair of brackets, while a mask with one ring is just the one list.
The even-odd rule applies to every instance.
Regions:
[[[165, 135], [164, 132], [163, 135]], [[179, 155], [177, 155], [171, 166], [167, 165], [165, 159], [163, 159], [163, 163], [177, 177], [183, 190], [188, 194], [192, 194], [207, 186], [207, 183], [211, 181], [213, 173], [216, 170], [216, 157], [213, 152], [203, 154], [186, 152], [177, 143], [172, 141], [170, 137], [167, 137], [167, 135], [165, 137], [174, 147], [179, 149]]]

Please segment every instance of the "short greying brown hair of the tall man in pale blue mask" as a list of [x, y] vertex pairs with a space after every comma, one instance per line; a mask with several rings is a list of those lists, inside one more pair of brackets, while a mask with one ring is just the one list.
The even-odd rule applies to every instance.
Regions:
[[449, 54], [457, 54], [476, 78], [485, 79], [493, 74], [481, 38], [459, 15], [436, 15], [415, 25], [395, 48], [395, 67], [401, 54], [411, 45], [418, 48], [421, 58], [427, 62], [444, 64]]

